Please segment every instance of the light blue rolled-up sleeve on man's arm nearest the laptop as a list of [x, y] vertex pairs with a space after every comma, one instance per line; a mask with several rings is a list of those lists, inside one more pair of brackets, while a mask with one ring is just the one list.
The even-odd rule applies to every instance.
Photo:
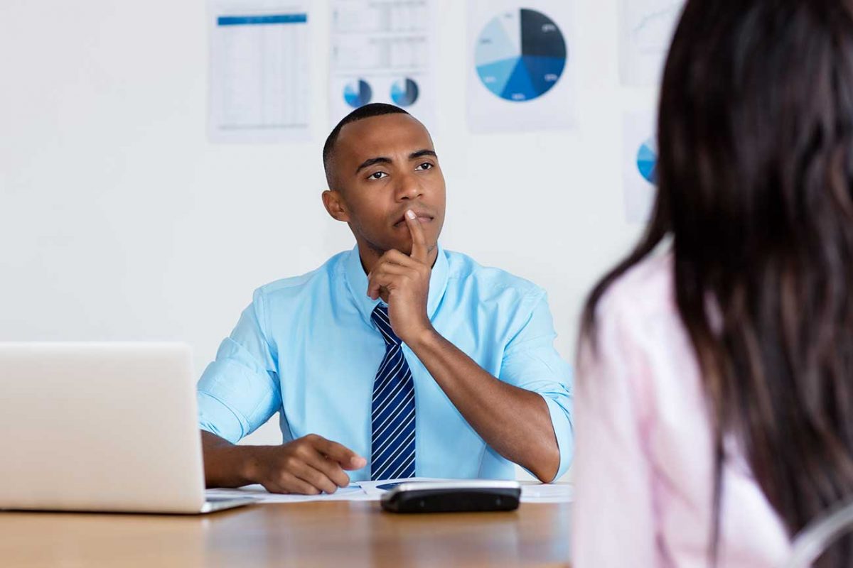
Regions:
[[199, 427], [236, 444], [281, 409], [275, 357], [264, 334], [264, 297], [256, 291], [197, 389]]

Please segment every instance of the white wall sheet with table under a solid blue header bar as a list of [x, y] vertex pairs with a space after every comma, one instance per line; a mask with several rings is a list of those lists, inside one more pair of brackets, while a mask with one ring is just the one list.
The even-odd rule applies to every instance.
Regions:
[[208, 137], [214, 142], [310, 137], [305, 3], [211, 0]]

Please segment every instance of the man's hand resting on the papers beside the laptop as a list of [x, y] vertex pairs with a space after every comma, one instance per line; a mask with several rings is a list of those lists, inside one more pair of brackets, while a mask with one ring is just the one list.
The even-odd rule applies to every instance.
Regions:
[[361, 469], [367, 460], [337, 442], [309, 434], [285, 445], [255, 449], [248, 477], [270, 493], [318, 495], [350, 485], [344, 470]]

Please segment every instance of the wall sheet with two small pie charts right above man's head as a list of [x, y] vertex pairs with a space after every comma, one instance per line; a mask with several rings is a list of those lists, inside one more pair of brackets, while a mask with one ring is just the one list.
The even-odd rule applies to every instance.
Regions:
[[434, 0], [333, 0], [332, 123], [371, 102], [401, 106], [421, 122], [433, 122], [434, 15]]

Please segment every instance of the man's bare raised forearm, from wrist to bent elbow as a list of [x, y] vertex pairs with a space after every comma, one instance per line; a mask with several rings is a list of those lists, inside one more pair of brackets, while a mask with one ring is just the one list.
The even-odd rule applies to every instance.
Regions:
[[488, 445], [538, 479], [554, 479], [560, 446], [542, 396], [491, 376], [435, 330], [408, 345]]

